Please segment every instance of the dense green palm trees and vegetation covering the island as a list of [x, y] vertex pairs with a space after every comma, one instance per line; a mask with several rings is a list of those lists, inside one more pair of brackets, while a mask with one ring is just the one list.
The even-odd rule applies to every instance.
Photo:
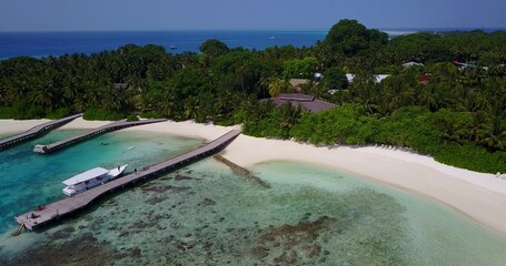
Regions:
[[[242, 123], [245, 133], [317, 145], [407, 146], [452, 165], [506, 172], [506, 32], [416, 33], [388, 40], [354, 20], [335, 24], [310, 48], [201, 53], [128, 44], [97, 54], [0, 61], [0, 117], [145, 117]], [[452, 62], [470, 62], [458, 69]], [[416, 61], [424, 65], [403, 68]], [[338, 104], [307, 113], [259, 99], [321, 82], [304, 93]], [[345, 74], [355, 74], [348, 84]], [[378, 83], [375, 74], [389, 74]], [[420, 82], [424, 81], [424, 82]]]

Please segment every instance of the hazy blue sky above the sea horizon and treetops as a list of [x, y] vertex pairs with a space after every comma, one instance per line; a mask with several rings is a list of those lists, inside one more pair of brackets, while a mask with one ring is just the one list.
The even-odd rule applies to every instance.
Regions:
[[506, 0], [0, 0], [0, 31], [506, 28]]

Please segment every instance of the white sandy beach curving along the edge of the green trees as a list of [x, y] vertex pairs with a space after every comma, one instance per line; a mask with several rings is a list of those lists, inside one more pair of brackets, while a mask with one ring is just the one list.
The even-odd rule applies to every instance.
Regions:
[[[28, 130], [39, 123], [0, 120], [0, 134]], [[92, 129], [107, 123], [77, 119], [61, 129]], [[187, 121], [148, 124], [126, 131], [163, 132], [214, 140], [230, 129]], [[445, 203], [498, 234], [506, 235], [506, 180], [493, 174], [443, 165], [431, 157], [397, 150], [316, 147], [246, 135], [236, 139], [222, 155], [244, 167], [268, 161], [300, 161], [333, 167]]]

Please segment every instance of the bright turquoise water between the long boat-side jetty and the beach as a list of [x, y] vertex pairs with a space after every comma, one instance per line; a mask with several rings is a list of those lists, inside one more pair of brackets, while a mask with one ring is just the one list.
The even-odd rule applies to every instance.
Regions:
[[[165, 134], [113, 132], [50, 155], [31, 151], [34, 144], [49, 144], [79, 132], [54, 131], [0, 152], [0, 233], [16, 226], [14, 215], [63, 198], [61, 182], [76, 174], [97, 166], [112, 168], [126, 163], [129, 164], [127, 172], [132, 172], [135, 167], [157, 163], [201, 143]], [[109, 145], [100, 145], [102, 142]]]

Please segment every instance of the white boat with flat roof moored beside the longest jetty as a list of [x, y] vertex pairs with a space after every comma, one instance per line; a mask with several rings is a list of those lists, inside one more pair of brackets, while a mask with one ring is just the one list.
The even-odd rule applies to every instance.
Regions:
[[91, 187], [102, 185], [121, 175], [127, 166], [128, 164], [125, 164], [111, 170], [95, 167], [92, 170], [88, 170], [83, 173], [75, 175], [63, 181], [63, 184], [67, 185], [67, 187], [63, 188], [63, 193], [67, 196], [73, 196], [81, 192], [88, 191]]

